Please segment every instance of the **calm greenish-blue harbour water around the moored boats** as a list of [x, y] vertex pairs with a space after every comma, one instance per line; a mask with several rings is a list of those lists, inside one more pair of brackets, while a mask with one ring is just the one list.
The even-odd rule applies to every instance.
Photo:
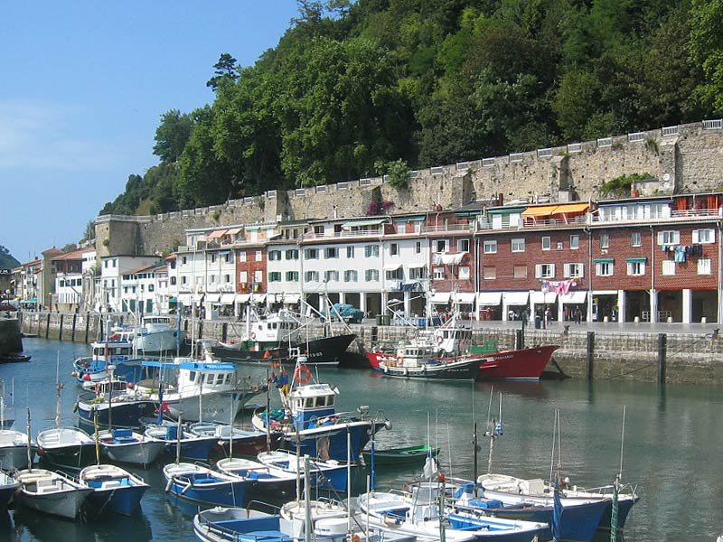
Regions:
[[[65, 385], [61, 421], [74, 425], [78, 388], [70, 377], [70, 363], [87, 355], [89, 347], [41, 339], [23, 342], [33, 360], [0, 366], [0, 378], [5, 378], [8, 390], [14, 378], [16, 426], [24, 429], [26, 406], [32, 408], [34, 435], [54, 424], [59, 357]], [[244, 369], [255, 379], [265, 375], [259, 367]], [[486, 470], [488, 444], [482, 435], [490, 400], [488, 384], [400, 380], [359, 369], [320, 369], [319, 374], [340, 388], [340, 409], [366, 404], [371, 412], [383, 411], [392, 421], [392, 430], [378, 435], [378, 447], [423, 444], [428, 431], [432, 444], [442, 446], [440, 462], [452, 476], [472, 476], [474, 410], [483, 447], [479, 468]], [[502, 392], [504, 425], [504, 435], [494, 446], [494, 472], [547, 478], [552, 420], [559, 408], [565, 475], [584, 486], [610, 483], [619, 468], [626, 406], [623, 478], [637, 484], [642, 500], [628, 519], [625, 540], [714, 540], [723, 533], [723, 479], [718, 468], [723, 450], [723, 397], [719, 388], [671, 385], [661, 391], [643, 383], [602, 381], [587, 386], [584, 381], [568, 380], [501, 383], [494, 390], [493, 415], [498, 408], [497, 392]], [[277, 397], [273, 403], [277, 405]], [[165, 499], [160, 467], [135, 472], [152, 489], [146, 492], [142, 512], [133, 518], [73, 523], [11, 510], [0, 515], [0, 540], [193, 540], [192, 510], [184, 513]], [[394, 487], [415, 474], [415, 470], [378, 472], [377, 486]]]

